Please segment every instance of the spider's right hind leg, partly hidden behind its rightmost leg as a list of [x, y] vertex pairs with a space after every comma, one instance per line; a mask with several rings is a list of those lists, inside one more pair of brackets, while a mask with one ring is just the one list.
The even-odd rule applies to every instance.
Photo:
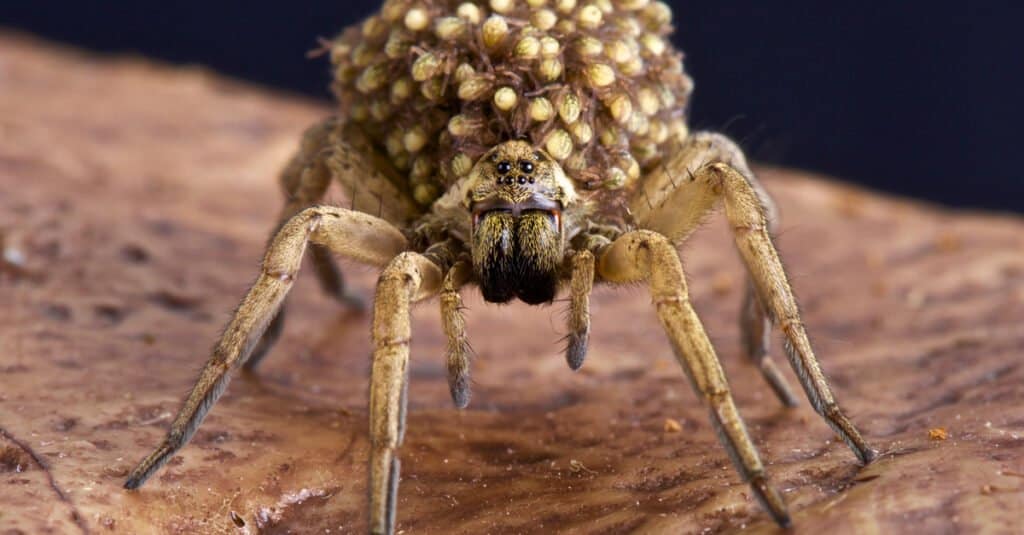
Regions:
[[[765, 210], [768, 231], [774, 232], [778, 222], [775, 203], [748, 169], [743, 153], [725, 136], [709, 132], [692, 134], [677, 154], [645, 178], [630, 204], [641, 228], [662, 233], [677, 244], [685, 241], [718, 200], [715, 192], [695, 186], [697, 171], [709, 162], [728, 162], [743, 170]], [[799, 403], [793, 387], [768, 353], [771, 327], [771, 315], [758, 298], [749, 274], [739, 317], [743, 353], [761, 370], [779, 401], [795, 407]]]

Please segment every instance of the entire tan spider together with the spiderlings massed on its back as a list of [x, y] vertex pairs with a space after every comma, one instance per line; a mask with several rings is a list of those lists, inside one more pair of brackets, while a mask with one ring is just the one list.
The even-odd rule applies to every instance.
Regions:
[[[725, 374], [690, 305], [677, 247], [725, 207], [750, 275], [743, 345], [786, 406], [797, 398], [767, 353], [777, 323], [814, 409], [862, 463], [876, 452], [837, 405], [778, 253], [776, 214], [739, 149], [691, 133], [692, 84], [666, 40], [662, 2], [388, 0], [330, 45], [337, 118], [310, 128], [282, 181], [287, 202], [262, 271], [224, 329], [136, 489], [196, 433], [230, 373], [253, 369], [284, 325], [308, 246], [324, 289], [353, 303], [332, 255], [383, 269], [373, 304], [370, 530], [392, 533], [406, 419], [410, 313], [439, 296], [455, 404], [469, 403], [460, 290], [490, 302], [568, 293], [566, 360], [587, 353], [594, 283], [644, 283], [676, 359], [706, 401], [736, 469], [781, 526]], [[317, 205], [332, 180], [350, 209]]]

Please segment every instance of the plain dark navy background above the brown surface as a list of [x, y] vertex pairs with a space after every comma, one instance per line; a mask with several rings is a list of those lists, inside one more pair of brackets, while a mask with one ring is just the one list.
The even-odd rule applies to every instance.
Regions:
[[[1024, 7], [670, 4], [696, 80], [695, 128], [724, 130], [758, 160], [951, 205], [1024, 211]], [[305, 52], [376, 5], [0, 0], [0, 26], [326, 97], [326, 61]]]

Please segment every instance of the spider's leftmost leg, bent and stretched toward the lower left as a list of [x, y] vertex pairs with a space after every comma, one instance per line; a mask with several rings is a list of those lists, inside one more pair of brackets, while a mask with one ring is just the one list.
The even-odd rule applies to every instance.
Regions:
[[164, 442], [131, 471], [125, 488], [145, 483], [179, 450], [223, 394], [230, 372], [243, 364], [284, 301], [308, 242], [372, 265], [384, 265], [406, 248], [406, 238], [387, 221], [342, 208], [317, 206], [288, 220], [271, 240], [262, 270], [196, 380]]

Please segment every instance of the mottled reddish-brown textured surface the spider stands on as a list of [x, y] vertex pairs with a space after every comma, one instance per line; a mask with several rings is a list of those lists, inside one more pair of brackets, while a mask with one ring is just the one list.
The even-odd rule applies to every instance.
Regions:
[[[325, 113], [196, 69], [0, 35], [0, 531], [365, 531], [368, 318], [308, 271], [258, 376], [238, 377], [139, 492], [121, 489], [254, 279], [276, 171]], [[1024, 220], [761, 171], [818, 356], [884, 452], [858, 466], [740, 358], [742, 272], [715, 217], [683, 248], [694, 302], [795, 531], [1019, 533]], [[348, 273], [369, 297], [374, 274]], [[579, 373], [560, 354], [564, 302], [466, 302], [477, 358], [461, 412], [437, 304], [416, 311], [400, 530], [775, 530], [645, 290], [597, 291]]]

